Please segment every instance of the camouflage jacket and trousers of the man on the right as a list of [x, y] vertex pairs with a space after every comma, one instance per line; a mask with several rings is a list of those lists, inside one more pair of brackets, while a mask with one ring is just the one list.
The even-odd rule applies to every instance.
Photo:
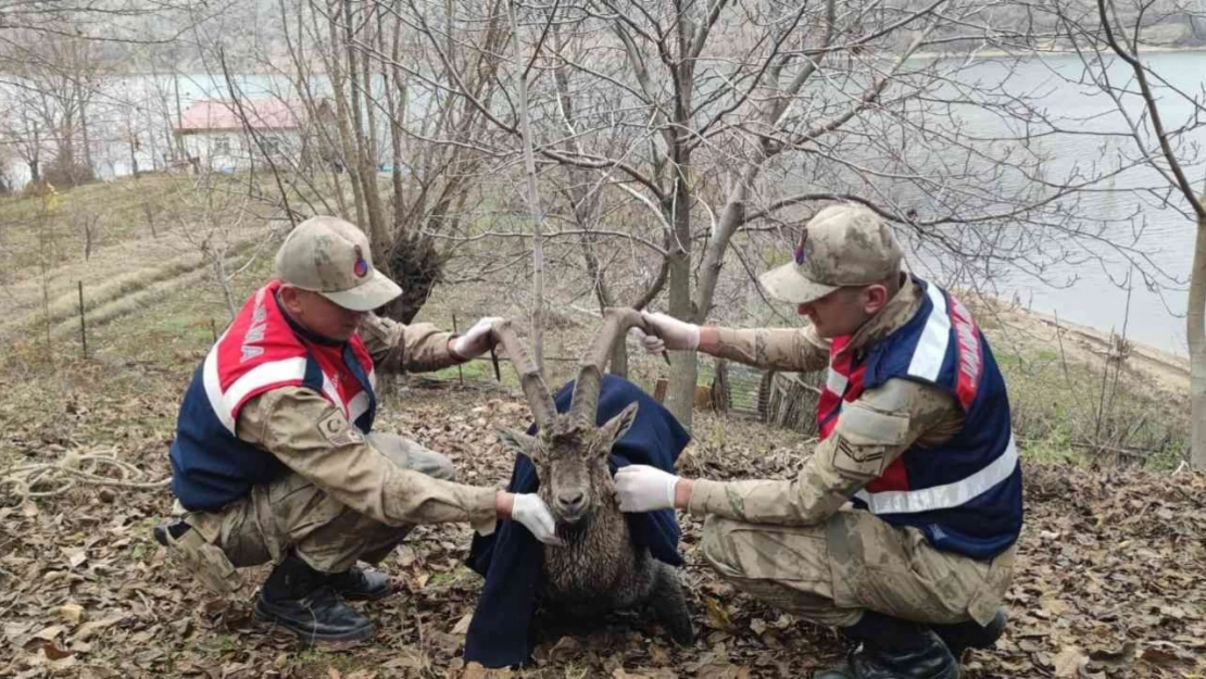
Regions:
[[[843, 351], [865, 352], [913, 317], [923, 293], [904, 280]], [[812, 371], [830, 362], [827, 340], [810, 326], [718, 333], [713, 352], [740, 363]], [[959, 404], [938, 387], [892, 379], [868, 390], [845, 404], [833, 433], [795, 479], [692, 481], [687, 509], [707, 516], [703, 555], [736, 587], [821, 625], [854, 625], [863, 610], [988, 624], [1009, 585], [1015, 546], [977, 561], [936, 550], [920, 531], [848, 504], [906, 449], [943, 443], [961, 426]]]

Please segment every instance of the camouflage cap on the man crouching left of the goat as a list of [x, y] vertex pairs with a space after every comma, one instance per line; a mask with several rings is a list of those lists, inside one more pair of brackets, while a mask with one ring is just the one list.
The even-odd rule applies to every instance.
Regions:
[[298, 224], [276, 251], [276, 276], [352, 311], [370, 311], [402, 294], [397, 283], [373, 268], [364, 232], [336, 217], [310, 217]]

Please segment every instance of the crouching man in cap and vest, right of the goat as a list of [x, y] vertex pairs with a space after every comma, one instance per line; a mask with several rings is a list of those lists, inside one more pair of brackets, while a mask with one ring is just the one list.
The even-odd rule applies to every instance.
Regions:
[[[824, 679], [952, 679], [987, 648], [1021, 528], [1021, 468], [1005, 382], [967, 308], [901, 270], [870, 210], [806, 226], [795, 262], [763, 274], [802, 329], [698, 327], [646, 314], [646, 349], [819, 370], [821, 443], [781, 481], [616, 474], [620, 507], [707, 516], [702, 551], [726, 580], [861, 646]], [[848, 504], [850, 503], [850, 504]]]

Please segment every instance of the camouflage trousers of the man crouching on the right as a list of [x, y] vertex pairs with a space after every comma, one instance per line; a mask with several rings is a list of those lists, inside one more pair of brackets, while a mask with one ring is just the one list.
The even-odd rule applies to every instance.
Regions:
[[709, 516], [702, 551], [737, 589], [818, 625], [847, 627], [863, 610], [919, 622], [985, 625], [1013, 579], [1017, 546], [989, 561], [938, 551], [920, 531], [867, 511], [819, 526]]

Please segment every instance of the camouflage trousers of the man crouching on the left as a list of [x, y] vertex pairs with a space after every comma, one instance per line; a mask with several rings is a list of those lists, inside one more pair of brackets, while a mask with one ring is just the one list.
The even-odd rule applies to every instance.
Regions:
[[[456, 480], [447, 457], [412, 440], [376, 432], [368, 440], [399, 467]], [[177, 502], [174, 514], [206, 544], [221, 549], [235, 568], [280, 563], [292, 548], [316, 570], [339, 573], [357, 561], [381, 561], [414, 527], [386, 526], [369, 519], [292, 473], [253, 487], [251, 494], [219, 511], [187, 513]]]

